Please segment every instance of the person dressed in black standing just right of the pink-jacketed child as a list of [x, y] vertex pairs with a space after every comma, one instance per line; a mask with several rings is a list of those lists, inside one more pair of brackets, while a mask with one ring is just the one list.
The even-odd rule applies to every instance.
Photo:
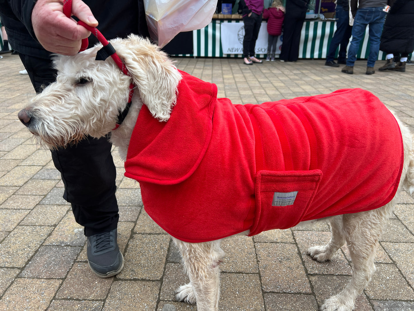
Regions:
[[297, 61], [301, 30], [306, 18], [309, 0], [286, 0], [280, 61]]

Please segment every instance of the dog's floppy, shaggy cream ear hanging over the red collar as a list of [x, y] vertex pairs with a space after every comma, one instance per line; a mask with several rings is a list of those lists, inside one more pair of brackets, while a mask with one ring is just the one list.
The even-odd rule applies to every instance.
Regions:
[[125, 62], [142, 102], [155, 118], [167, 121], [181, 80], [177, 68], [158, 46], [140, 36], [115, 39], [112, 44]]

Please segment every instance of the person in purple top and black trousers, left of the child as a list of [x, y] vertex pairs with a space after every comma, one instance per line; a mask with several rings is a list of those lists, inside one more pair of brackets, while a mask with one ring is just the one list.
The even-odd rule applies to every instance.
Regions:
[[255, 57], [255, 46], [262, 24], [263, 0], [240, 0], [239, 5], [242, 10], [245, 33], [243, 39], [244, 63], [246, 65], [261, 64], [263, 61]]

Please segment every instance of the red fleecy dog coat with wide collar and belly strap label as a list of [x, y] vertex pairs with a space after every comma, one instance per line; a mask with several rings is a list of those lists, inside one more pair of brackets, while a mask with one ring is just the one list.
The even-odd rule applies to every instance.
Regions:
[[252, 236], [394, 197], [400, 128], [370, 92], [233, 105], [217, 99], [216, 85], [181, 74], [168, 121], [142, 106], [125, 162], [145, 210], [171, 236]]

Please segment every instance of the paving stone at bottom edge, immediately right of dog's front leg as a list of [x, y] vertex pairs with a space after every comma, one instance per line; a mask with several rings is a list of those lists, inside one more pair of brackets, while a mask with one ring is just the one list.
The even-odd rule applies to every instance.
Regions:
[[219, 309], [265, 310], [259, 275], [221, 273]]

